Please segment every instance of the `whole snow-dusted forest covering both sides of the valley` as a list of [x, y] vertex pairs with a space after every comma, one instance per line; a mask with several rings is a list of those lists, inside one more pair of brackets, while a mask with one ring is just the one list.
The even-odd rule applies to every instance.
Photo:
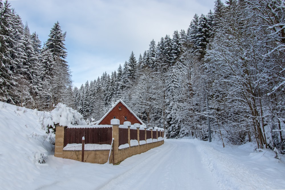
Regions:
[[[215, 1], [148, 50], [80, 88], [56, 22], [43, 43], [8, 1], [0, 1], [0, 100], [41, 111], [64, 103], [88, 121], [122, 99], [167, 138], [192, 136], [285, 153], [285, 2]], [[190, 19], [191, 20], [191, 19]], [[137, 53], [137, 52], [136, 52]]]

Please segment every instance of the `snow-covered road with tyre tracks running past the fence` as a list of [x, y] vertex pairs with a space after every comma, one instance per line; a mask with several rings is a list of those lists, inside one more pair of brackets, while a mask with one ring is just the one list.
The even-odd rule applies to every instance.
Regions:
[[194, 144], [166, 141], [143, 154], [123, 161], [128, 169], [98, 189], [219, 189]]

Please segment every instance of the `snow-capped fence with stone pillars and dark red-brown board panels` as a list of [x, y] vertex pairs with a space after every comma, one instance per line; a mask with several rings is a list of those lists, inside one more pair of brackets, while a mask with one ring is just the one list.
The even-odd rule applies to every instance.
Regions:
[[164, 143], [163, 129], [145, 129], [139, 124], [135, 124], [135, 127], [127, 124], [129, 126], [119, 126], [119, 122], [113, 121], [112, 127], [86, 128], [57, 125], [54, 156], [82, 162], [115, 164]]

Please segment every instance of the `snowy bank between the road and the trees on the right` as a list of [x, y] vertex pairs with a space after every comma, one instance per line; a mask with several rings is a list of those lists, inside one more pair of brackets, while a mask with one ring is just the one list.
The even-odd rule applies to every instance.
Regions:
[[241, 146], [197, 139], [181, 139], [196, 145], [202, 163], [221, 189], [285, 189], [285, 157], [272, 150], [255, 150], [255, 143]]

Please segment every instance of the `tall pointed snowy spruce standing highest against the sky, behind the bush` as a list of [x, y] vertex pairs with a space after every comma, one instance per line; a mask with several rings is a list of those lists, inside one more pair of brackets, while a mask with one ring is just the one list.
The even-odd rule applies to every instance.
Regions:
[[[65, 61], [67, 56], [64, 44], [65, 36], [66, 32], [62, 32], [60, 25], [57, 22], [50, 30], [49, 38], [45, 44], [45, 55], [50, 56], [48, 55], [50, 52], [52, 58], [48, 57], [48, 59], [50, 62], [53, 62], [53, 73], [42, 70], [42, 80], [45, 81], [48, 79], [50, 81], [49, 84], [43, 83], [42, 86], [42, 91], [46, 94], [45, 99], [47, 100], [47, 109], [52, 109], [53, 105], [56, 105], [57, 103], [64, 103], [67, 105], [72, 103], [72, 80], [69, 66]], [[48, 69], [48, 67], [42, 68]], [[43, 73], [46, 73], [46, 75]], [[50, 77], [49, 75], [53, 75], [53, 77]]]

